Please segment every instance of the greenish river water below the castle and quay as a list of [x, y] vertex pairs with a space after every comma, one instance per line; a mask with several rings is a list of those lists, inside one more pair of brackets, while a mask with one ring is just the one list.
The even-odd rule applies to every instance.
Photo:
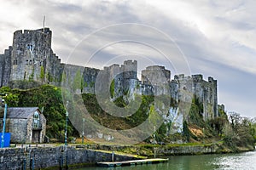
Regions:
[[133, 167], [84, 167], [79, 170], [256, 170], [256, 151], [239, 154], [214, 154], [201, 156], [169, 156], [169, 161], [160, 164]]

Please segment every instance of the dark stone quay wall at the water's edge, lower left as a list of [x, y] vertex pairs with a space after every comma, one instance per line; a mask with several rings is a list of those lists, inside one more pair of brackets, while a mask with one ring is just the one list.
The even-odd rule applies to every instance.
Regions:
[[133, 156], [121, 156], [111, 152], [58, 147], [25, 147], [0, 149], [0, 169], [65, 169], [95, 165], [100, 161], [134, 160]]

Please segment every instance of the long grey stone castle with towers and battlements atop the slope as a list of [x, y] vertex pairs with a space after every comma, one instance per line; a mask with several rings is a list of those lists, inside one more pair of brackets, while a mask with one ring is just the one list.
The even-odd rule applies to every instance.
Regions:
[[135, 93], [170, 94], [172, 99], [179, 100], [180, 92], [187, 91], [203, 105], [205, 120], [218, 116], [217, 80], [212, 77], [205, 81], [202, 75], [177, 75], [171, 80], [171, 71], [151, 65], [142, 71], [140, 81], [136, 60], [126, 60], [123, 65], [110, 65], [103, 70], [63, 64], [51, 48], [51, 37], [49, 28], [15, 31], [13, 45], [0, 54], [0, 87], [24, 88], [24, 82], [49, 83], [70, 86], [75, 93], [93, 94], [96, 77], [103, 71], [108, 75], [105, 78], [114, 80], [112, 98]]

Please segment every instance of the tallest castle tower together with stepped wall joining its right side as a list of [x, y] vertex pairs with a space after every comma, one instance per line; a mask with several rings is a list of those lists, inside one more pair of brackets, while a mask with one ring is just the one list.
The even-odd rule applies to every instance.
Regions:
[[51, 37], [49, 28], [15, 31], [9, 84], [26, 80], [60, 85], [63, 69], [51, 49]]

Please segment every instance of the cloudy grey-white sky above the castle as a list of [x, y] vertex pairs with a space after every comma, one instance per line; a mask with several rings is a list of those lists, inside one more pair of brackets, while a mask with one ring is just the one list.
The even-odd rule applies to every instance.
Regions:
[[[0, 0], [0, 52], [13, 32], [45, 26], [63, 62], [102, 69], [124, 59], [139, 68], [218, 80], [218, 103], [256, 116], [254, 0]], [[127, 24], [130, 23], [130, 24]], [[131, 24], [133, 23], [133, 24]], [[97, 49], [97, 51], [96, 51]]]

